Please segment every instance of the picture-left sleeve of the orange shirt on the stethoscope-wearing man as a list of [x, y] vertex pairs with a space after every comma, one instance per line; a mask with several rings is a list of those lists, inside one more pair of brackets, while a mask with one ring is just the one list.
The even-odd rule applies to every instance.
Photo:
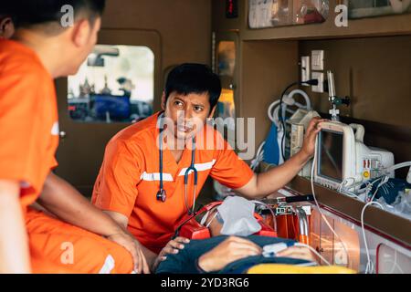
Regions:
[[106, 147], [104, 162], [94, 187], [95, 201], [100, 209], [132, 214], [140, 183], [142, 152], [125, 141], [111, 141]]

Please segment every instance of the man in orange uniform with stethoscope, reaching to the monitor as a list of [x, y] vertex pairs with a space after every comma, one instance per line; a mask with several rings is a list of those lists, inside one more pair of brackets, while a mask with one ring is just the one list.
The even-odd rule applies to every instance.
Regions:
[[[204, 65], [174, 68], [166, 81], [163, 112], [121, 130], [106, 147], [92, 203], [150, 249], [149, 262], [165, 245], [165, 254], [177, 253], [187, 242], [177, 238], [167, 245], [184, 214], [195, 208], [208, 175], [247, 198], [263, 198], [290, 182], [314, 151], [320, 130], [314, 126], [321, 120], [311, 121], [300, 153], [276, 169], [255, 174], [218, 131], [206, 125], [220, 93], [219, 78]], [[186, 173], [192, 165], [196, 188], [195, 173]], [[255, 245], [239, 248], [255, 250]]]

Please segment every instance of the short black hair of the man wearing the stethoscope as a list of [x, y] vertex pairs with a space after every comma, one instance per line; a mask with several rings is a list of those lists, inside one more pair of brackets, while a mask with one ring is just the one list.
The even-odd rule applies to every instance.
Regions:
[[211, 110], [221, 95], [221, 81], [211, 68], [203, 64], [185, 63], [174, 68], [165, 83], [165, 101], [172, 92], [188, 95], [208, 93]]

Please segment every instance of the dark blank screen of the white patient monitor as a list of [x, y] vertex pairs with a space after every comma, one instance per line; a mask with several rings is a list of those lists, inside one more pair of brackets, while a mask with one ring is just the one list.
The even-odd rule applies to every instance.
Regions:
[[319, 136], [318, 175], [342, 182], [343, 133], [333, 130], [321, 130]]

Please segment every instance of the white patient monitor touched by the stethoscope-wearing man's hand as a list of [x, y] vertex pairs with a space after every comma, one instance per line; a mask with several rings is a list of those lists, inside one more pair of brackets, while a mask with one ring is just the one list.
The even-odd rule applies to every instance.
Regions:
[[[315, 150], [314, 182], [334, 190], [343, 183], [354, 191], [356, 185], [383, 175], [383, 169], [393, 166], [394, 154], [365, 146], [364, 133], [364, 126], [359, 124], [322, 123]], [[394, 172], [389, 176], [394, 177]]]

